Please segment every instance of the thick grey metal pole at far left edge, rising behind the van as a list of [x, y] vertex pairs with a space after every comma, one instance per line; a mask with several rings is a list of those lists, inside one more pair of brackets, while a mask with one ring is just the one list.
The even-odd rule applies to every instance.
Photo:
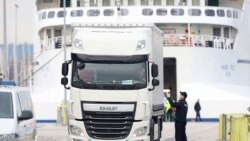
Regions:
[[4, 47], [3, 47], [3, 79], [9, 80], [8, 76], [8, 45], [7, 45], [7, 23], [6, 23], [6, 0], [3, 0], [3, 41], [4, 41]]

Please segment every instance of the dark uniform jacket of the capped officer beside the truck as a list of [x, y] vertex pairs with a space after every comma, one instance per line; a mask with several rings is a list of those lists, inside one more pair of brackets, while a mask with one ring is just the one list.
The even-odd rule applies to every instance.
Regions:
[[187, 122], [188, 104], [185, 100], [173, 102], [171, 98], [168, 98], [169, 103], [172, 107], [176, 108], [175, 121]]

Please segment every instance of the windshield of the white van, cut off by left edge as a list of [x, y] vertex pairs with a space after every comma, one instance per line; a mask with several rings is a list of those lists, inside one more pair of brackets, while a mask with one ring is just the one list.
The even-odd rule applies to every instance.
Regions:
[[0, 118], [13, 118], [11, 93], [0, 92]]

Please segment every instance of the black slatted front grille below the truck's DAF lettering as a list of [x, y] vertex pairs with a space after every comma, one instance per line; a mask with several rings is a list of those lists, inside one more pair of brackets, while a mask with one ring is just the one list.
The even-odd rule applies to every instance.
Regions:
[[126, 138], [133, 125], [133, 112], [84, 112], [88, 135], [94, 139]]

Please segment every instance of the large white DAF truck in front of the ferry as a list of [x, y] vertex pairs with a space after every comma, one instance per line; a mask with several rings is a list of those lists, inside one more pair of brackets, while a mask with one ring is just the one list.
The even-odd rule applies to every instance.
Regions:
[[[145, 24], [76, 24], [70, 74], [70, 141], [160, 140], [162, 33]], [[70, 64], [70, 65], [69, 65]]]

